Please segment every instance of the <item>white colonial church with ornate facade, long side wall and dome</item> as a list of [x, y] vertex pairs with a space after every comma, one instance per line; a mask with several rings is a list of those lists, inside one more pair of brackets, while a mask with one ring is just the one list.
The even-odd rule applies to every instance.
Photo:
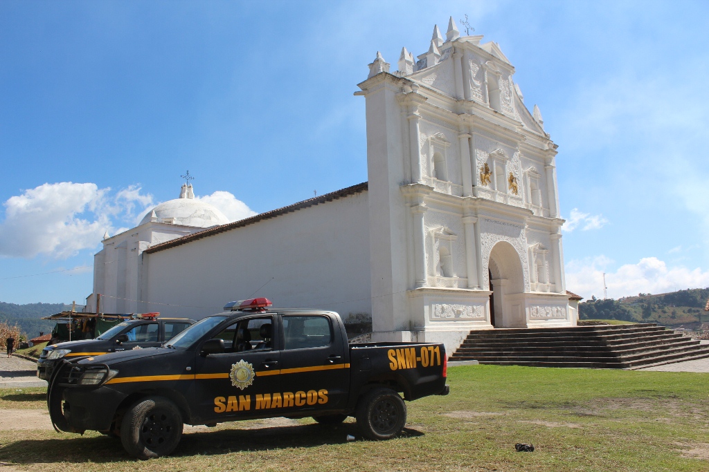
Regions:
[[557, 145], [494, 42], [450, 20], [428, 52], [381, 54], [366, 100], [368, 181], [228, 222], [180, 197], [106, 237], [94, 261], [102, 312], [201, 318], [227, 302], [371, 316], [374, 340], [574, 326], [564, 286]]

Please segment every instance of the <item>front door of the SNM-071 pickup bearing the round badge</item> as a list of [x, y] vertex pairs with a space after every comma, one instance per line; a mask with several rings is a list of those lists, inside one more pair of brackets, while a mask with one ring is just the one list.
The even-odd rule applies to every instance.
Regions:
[[276, 322], [271, 315], [240, 318], [213, 336], [224, 341], [224, 352], [206, 357], [197, 352], [192, 405], [199, 418], [209, 422], [272, 415], [261, 410], [281, 406], [274, 398], [280, 392]]

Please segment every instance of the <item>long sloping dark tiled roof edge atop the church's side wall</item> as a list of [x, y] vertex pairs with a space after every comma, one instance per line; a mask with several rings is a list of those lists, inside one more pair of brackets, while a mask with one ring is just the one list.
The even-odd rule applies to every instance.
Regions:
[[188, 236], [182, 236], [182, 238], [172, 239], [172, 241], [166, 241], [164, 243], [156, 244], [150, 248], [147, 248], [145, 253], [157, 253], [158, 251], [163, 251], [164, 249], [174, 248], [175, 246], [182, 246], [182, 244], [189, 243], [191, 241], [196, 241], [197, 239], [206, 238], [208, 236], [213, 236], [215, 234], [223, 233], [225, 231], [230, 231], [232, 229], [242, 228], [244, 226], [249, 226], [250, 224], [258, 223], [264, 219], [270, 219], [281, 216], [281, 214], [295, 212], [299, 209], [314, 207], [320, 203], [332, 202], [333, 200], [340, 199], [342, 197], [348, 197], [354, 195], [355, 193], [364, 192], [367, 190], [367, 182], [358, 183], [357, 185], [352, 185], [352, 187], [342, 188], [335, 192], [326, 193], [325, 195], [320, 195], [319, 197], [313, 197], [308, 200], [303, 200], [302, 202], [294, 203], [287, 207], [272, 209], [270, 212], [265, 212], [257, 214], [253, 217], [240, 219], [239, 221], [234, 221], [233, 223], [223, 224], [221, 226], [214, 226], [213, 228], [205, 229], [204, 231], [199, 231], [199, 233], [190, 234]]

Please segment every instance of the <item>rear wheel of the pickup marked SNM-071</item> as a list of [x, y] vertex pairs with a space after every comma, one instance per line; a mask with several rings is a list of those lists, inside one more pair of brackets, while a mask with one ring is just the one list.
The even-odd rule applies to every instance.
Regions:
[[356, 418], [362, 436], [391, 439], [406, 425], [406, 403], [391, 388], [375, 388], [360, 399]]

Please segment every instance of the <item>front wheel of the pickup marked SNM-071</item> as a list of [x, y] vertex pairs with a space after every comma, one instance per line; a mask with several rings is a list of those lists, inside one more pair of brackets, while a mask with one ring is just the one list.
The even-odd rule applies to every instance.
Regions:
[[121, 422], [123, 449], [145, 461], [167, 456], [182, 438], [182, 414], [167, 398], [141, 398], [125, 412]]

